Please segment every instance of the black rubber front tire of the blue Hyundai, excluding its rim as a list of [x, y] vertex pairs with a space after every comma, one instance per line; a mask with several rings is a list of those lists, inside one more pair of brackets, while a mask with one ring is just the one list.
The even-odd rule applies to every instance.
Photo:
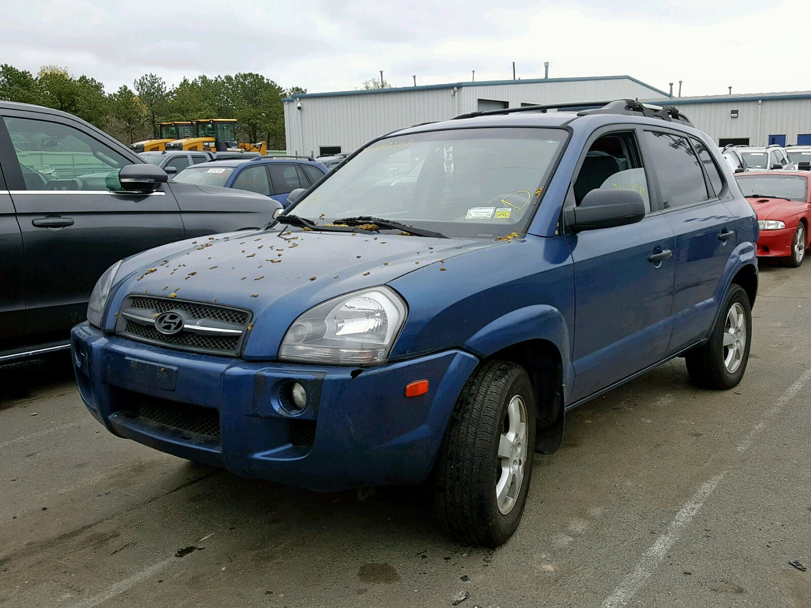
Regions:
[[[526, 413], [526, 440], [521, 455], [506, 459], [523, 467], [520, 483], [500, 511], [496, 482], [507, 470], [498, 456], [508, 405], [521, 397]], [[515, 408], [521, 408], [516, 400]], [[513, 409], [513, 412], [515, 409]], [[506, 436], [506, 435], [505, 435]], [[496, 547], [508, 540], [521, 522], [532, 478], [535, 441], [535, 395], [530, 376], [515, 363], [491, 361], [470, 376], [453, 411], [434, 469], [434, 502], [440, 525], [459, 541]], [[502, 473], [504, 471], [504, 473]], [[514, 490], [514, 491], [513, 491]]]

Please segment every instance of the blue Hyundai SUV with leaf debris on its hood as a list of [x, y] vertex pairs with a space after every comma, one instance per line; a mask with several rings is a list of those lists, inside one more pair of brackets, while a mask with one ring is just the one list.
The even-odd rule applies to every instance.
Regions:
[[728, 389], [749, 358], [727, 163], [676, 108], [596, 105], [397, 131], [264, 229], [114, 264], [72, 334], [88, 410], [245, 477], [428, 481], [449, 533], [505, 542], [569, 409], [676, 357]]

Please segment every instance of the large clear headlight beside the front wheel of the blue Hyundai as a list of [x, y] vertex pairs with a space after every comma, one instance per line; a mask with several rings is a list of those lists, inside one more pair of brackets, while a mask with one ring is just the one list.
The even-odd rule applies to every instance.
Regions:
[[299, 316], [281, 340], [279, 359], [347, 366], [384, 363], [405, 315], [405, 302], [388, 287], [347, 293]]

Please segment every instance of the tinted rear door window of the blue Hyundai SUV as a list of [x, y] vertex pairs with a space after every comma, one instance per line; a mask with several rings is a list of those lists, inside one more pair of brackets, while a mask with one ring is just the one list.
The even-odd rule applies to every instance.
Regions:
[[709, 198], [704, 173], [689, 139], [662, 131], [645, 131], [643, 141], [659, 182], [663, 209], [684, 207]]

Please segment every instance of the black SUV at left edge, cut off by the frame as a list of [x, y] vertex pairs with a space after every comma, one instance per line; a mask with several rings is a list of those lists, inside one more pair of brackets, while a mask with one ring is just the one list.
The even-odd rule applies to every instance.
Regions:
[[69, 348], [93, 285], [118, 259], [260, 228], [279, 208], [252, 192], [169, 182], [88, 122], [0, 102], [0, 365]]

